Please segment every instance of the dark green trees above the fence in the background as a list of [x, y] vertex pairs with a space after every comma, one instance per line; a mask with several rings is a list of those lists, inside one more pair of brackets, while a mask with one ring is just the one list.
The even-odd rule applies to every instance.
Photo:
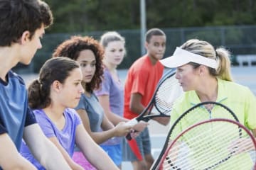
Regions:
[[[140, 27], [139, 0], [46, 0], [55, 23], [50, 33]], [[145, 0], [147, 28], [253, 25], [253, 0]]]

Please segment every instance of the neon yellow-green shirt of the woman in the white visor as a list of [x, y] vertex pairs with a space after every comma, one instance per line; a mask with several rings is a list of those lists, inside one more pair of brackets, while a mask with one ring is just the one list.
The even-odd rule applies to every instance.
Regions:
[[[217, 102], [230, 108], [245, 127], [250, 130], [256, 128], [256, 98], [249, 88], [232, 81], [218, 79]], [[173, 110], [171, 111], [171, 125], [188, 108], [198, 103], [201, 103], [201, 101], [196, 91], [186, 91], [174, 103]], [[212, 115], [214, 117], [214, 113]]]

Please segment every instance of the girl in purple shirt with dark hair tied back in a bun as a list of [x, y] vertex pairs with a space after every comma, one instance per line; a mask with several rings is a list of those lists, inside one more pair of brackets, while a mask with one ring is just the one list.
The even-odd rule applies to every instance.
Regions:
[[[86, 132], [78, 113], [82, 72], [74, 60], [54, 57], [40, 70], [39, 78], [28, 87], [28, 103], [46, 137], [59, 149], [72, 169], [83, 169], [72, 159], [75, 145], [97, 169], [118, 169]], [[44, 169], [23, 142], [21, 154], [38, 169]]]

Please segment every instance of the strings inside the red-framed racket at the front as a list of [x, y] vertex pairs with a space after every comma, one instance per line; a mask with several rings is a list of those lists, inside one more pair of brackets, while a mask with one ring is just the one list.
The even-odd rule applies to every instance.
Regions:
[[[245, 132], [241, 136], [238, 126], [224, 124], [201, 125], [184, 133], [169, 150], [164, 169], [251, 169], [252, 164], [245, 161], [248, 149], [237, 152], [232, 145], [242, 140], [239, 147], [246, 148], [252, 140]], [[255, 155], [255, 148], [251, 154]]]

